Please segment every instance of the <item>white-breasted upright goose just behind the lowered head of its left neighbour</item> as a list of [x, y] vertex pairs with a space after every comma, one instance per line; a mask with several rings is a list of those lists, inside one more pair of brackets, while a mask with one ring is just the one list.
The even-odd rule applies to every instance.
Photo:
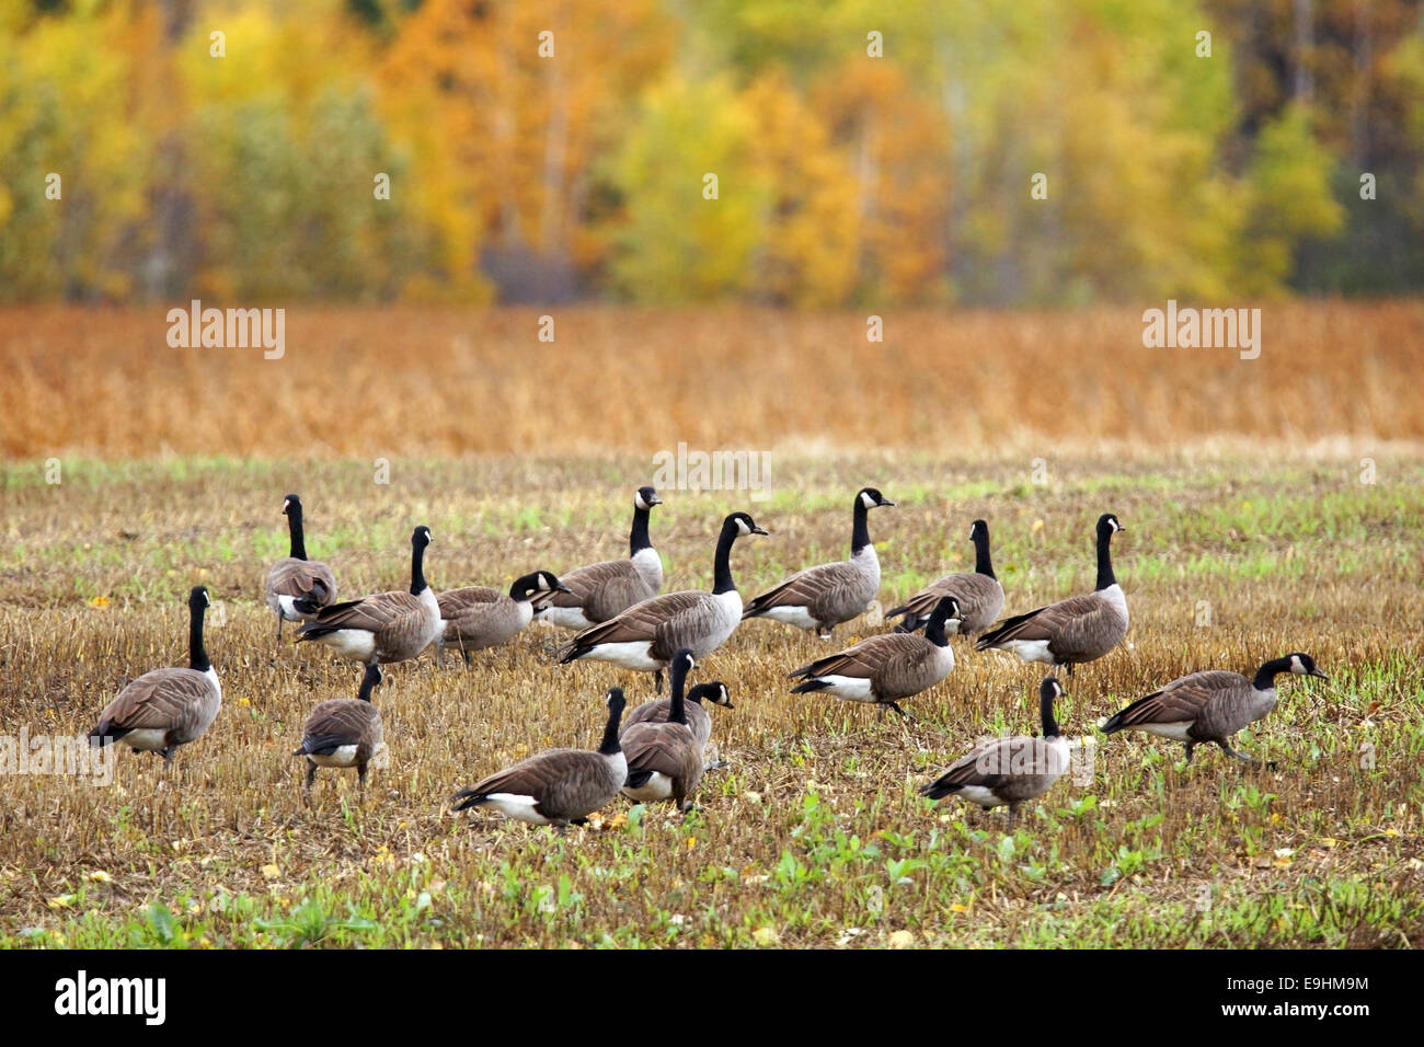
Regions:
[[648, 538], [648, 510], [662, 499], [652, 487], [632, 494], [627, 560], [604, 560], [560, 575], [564, 591], [534, 597], [534, 617], [571, 630], [608, 621], [662, 588], [662, 558]]

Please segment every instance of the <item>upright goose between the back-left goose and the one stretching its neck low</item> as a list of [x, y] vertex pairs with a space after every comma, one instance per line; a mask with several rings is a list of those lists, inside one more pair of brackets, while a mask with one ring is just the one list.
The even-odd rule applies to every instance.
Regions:
[[342, 658], [375, 665], [419, 658], [440, 637], [440, 604], [426, 584], [424, 554], [430, 528], [410, 536], [410, 591], [377, 593], [323, 607], [316, 620], [298, 630], [298, 642], [315, 640]]

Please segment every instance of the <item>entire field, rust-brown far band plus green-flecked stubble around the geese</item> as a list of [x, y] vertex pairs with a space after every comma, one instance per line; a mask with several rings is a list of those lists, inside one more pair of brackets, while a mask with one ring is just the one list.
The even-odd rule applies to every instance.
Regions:
[[[1424, 946], [1424, 407], [1418, 303], [1263, 309], [1259, 360], [1148, 350], [1131, 312], [887, 315], [302, 311], [286, 356], [169, 350], [162, 311], [0, 312], [0, 736], [74, 736], [125, 681], [184, 664], [182, 600], [209, 587], [224, 708], [171, 769], [121, 749], [112, 782], [0, 773], [6, 946]], [[246, 353], [246, 355], [244, 355]], [[1065, 679], [1081, 781], [1025, 806], [918, 788], [980, 738], [1037, 729], [1040, 667], [975, 652], [917, 721], [790, 695], [829, 644], [745, 623], [693, 681], [729, 762], [686, 818], [618, 799], [565, 836], [449, 796], [551, 745], [594, 746], [609, 685], [534, 627], [470, 668], [390, 667], [389, 766], [360, 802], [323, 771], [303, 802], [310, 708], [349, 662], [278, 644], [261, 600], [286, 553], [282, 496], [343, 597], [403, 587], [434, 533], [437, 587], [627, 553], [651, 453], [772, 449], [768, 497], [664, 490], [665, 590], [706, 587], [722, 516], [743, 597], [846, 554], [853, 493], [881, 604], [971, 570], [984, 517], [1014, 613], [1092, 585], [1114, 511], [1128, 641]], [[389, 483], [372, 462], [390, 459]], [[58, 460], [61, 481], [51, 483]], [[1035, 464], [1034, 459], [1042, 462]], [[1312, 654], [1280, 705], [1190, 765], [1095, 736], [1200, 668]], [[0, 738], [3, 742], [3, 738]]]

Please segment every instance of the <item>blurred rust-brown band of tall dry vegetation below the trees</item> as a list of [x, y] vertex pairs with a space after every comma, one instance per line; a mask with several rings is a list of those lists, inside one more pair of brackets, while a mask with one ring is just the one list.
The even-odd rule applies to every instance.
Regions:
[[[1162, 303], [1149, 303], [1161, 306]], [[884, 312], [884, 311], [881, 311]], [[0, 311], [0, 453], [105, 459], [1424, 439], [1424, 303], [1282, 303], [1263, 349], [1143, 349], [1141, 309], [292, 309], [286, 356], [169, 349], [167, 308]]]

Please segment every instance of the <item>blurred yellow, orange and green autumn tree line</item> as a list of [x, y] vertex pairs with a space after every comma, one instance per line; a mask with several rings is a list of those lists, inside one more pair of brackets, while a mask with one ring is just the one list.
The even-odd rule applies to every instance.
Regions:
[[1421, 285], [1420, 0], [0, 0], [0, 301]]

